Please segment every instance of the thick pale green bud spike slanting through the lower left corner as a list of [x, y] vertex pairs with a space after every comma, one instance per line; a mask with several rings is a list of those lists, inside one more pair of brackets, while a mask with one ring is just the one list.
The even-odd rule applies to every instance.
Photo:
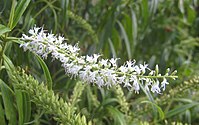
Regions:
[[25, 71], [14, 71], [13, 82], [16, 89], [22, 90], [31, 97], [37, 106], [41, 107], [45, 112], [53, 114], [55, 120], [64, 125], [86, 125], [85, 117], [74, 114], [74, 107], [70, 103], [67, 104], [52, 90], [36, 81], [32, 76], [25, 74]]

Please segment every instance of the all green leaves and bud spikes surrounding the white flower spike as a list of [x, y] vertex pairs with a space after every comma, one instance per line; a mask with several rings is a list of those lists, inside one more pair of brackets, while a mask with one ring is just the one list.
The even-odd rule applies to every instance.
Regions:
[[[1, 125], [67, 124], [68, 118], [93, 125], [199, 123], [197, 0], [0, 0], [0, 24]], [[162, 73], [171, 67], [179, 78], [161, 95], [82, 84], [58, 61], [19, 47], [17, 38], [35, 25], [78, 43], [81, 55], [158, 64]], [[34, 78], [13, 73], [17, 66]]]

